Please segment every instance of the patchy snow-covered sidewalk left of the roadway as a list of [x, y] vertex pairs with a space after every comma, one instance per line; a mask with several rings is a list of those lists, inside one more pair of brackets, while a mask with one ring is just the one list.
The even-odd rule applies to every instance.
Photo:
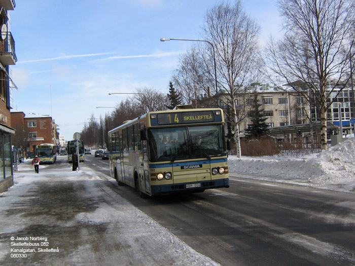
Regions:
[[39, 174], [26, 160], [0, 194], [1, 265], [218, 265], [120, 197], [115, 180], [61, 160]]

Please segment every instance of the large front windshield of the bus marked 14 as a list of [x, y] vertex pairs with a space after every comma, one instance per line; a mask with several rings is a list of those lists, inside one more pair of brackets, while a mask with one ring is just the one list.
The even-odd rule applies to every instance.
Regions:
[[150, 129], [148, 132], [151, 162], [227, 155], [223, 125]]

